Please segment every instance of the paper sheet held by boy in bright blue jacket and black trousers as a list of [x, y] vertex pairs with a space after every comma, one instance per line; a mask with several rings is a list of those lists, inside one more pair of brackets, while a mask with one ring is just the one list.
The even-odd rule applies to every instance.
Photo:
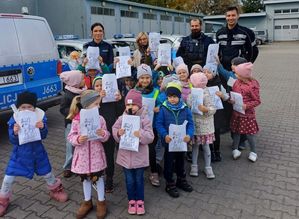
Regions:
[[182, 152], [187, 151], [187, 143], [184, 142], [186, 136], [187, 121], [182, 125], [170, 124], [169, 136], [172, 139], [169, 143], [169, 152]]

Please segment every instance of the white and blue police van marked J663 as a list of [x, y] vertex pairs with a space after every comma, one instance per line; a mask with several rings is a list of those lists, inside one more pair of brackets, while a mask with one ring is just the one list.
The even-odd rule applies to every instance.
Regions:
[[42, 109], [59, 104], [62, 66], [47, 21], [0, 13], [0, 30], [0, 120], [25, 90], [37, 94]]

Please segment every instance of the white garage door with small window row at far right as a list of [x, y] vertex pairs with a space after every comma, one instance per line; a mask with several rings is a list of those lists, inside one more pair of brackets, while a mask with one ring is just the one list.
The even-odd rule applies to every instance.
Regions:
[[299, 40], [299, 19], [275, 20], [274, 40], [290, 41]]

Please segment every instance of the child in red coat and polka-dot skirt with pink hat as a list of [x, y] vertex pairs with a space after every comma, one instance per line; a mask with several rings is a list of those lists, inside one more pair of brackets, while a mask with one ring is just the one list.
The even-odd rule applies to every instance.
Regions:
[[[231, 118], [231, 130], [233, 133], [233, 158], [238, 159], [241, 156], [241, 151], [238, 150], [240, 143], [240, 135], [246, 134], [250, 145], [250, 153], [248, 159], [252, 162], [257, 160], [255, 150], [256, 133], [259, 127], [256, 121], [254, 108], [261, 104], [260, 100], [260, 85], [257, 80], [252, 78], [253, 64], [247, 62], [235, 67], [235, 72], [238, 80], [234, 83], [233, 92], [240, 93], [243, 97], [243, 110], [245, 115], [237, 111], [233, 111]], [[234, 103], [231, 100], [231, 103]]]

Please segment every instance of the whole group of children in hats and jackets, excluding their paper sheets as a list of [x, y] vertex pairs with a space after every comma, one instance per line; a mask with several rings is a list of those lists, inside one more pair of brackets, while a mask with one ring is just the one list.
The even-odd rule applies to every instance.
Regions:
[[[104, 65], [101, 65], [104, 67]], [[83, 63], [84, 67], [84, 63]], [[136, 69], [136, 78], [128, 77], [119, 81], [119, 91], [115, 93], [115, 102], [102, 103], [106, 96], [102, 87], [102, 77], [106, 73], [99, 70], [86, 69], [63, 72], [60, 75], [65, 84], [60, 112], [65, 117], [66, 160], [64, 177], [72, 174], [80, 176], [83, 184], [84, 200], [81, 203], [77, 218], [85, 217], [93, 208], [91, 190], [92, 184], [97, 190], [97, 218], [107, 214], [105, 192], [113, 192], [114, 152], [125, 130], [122, 128], [123, 115], [140, 117], [140, 130], [133, 134], [139, 138], [138, 151], [117, 150], [116, 163], [123, 168], [128, 195], [128, 213], [142, 215], [144, 208], [144, 171], [150, 166], [150, 182], [160, 186], [160, 162], [164, 160], [163, 174], [166, 181], [166, 192], [171, 197], [179, 197], [177, 188], [192, 192], [193, 188], [186, 180], [185, 152], [169, 151], [169, 143], [173, 140], [169, 134], [171, 124], [182, 125], [187, 121], [186, 136], [183, 141], [191, 146], [192, 165], [190, 176], [198, 176], [198, 155], [200, 146], [204, 154], [204, 173], [209, 179], [215, 178], [211, 161], [221, 161], [220, 133], [230, 121], [232, 131], [232, 156], [237, 159], [241, 155], [240, 138], [245, 136], [250, 144], [249, 160], [255, 162], [255, 149], [258, 125], [255, 117], [255, 107], [260, 104], [259, 84], [252, 77], [252, 63], [237, 57], [232, 61], [232, 72], [226, 71], [221, 64], [218, 69], [209, 65], [203, 68], [194, 65], [190, 74], [187, 65], [179, 64], [167, 71], [151, 69], [141, 64]], [[172, 69], [169, 71], [169, 69]], [[84, 73], [82, 73], [84, 72]], [[218, 91], [223, 103], [234, 104], [229, 91], [238, 92], [243, 97], [245, 114], [232, 111], [231, 118], [224, 109], [216, 110], [214, 97], [208, 87], [218, 86], [221, 89], [222, 75], [227, 80], [236, 79], [226, 92]], [[203, 104], [198, 105], [201, 114], [191, 112], [191, 89], [203, 89]], [[151, 121], [143, 107], [142, 98], [155, 100], [154, 118]], [[40, 129], [42, 139], [47, 135], [46, 117], [42, 110], [36, 107], [36, 95], [24, 92], [18, 95], [18, 111], [30, 110], [38, 115], [36, 127]], [[224, 104], [225, 105], [225, 104]], [[80, 133], [80, 110], [99, 108], [100, 128], [96, 130], [98, 138], [88, 140]], [[34, 173], [44, 176], [51, 198], [65, 202], [68, 199], [61, 181], [51, 172], [51, 165], [42, 141], [20, 145], [18, 131], [20, 127], [14, 116], [9, 120], [9, 139], [14, 145], [5, 177], [0, 191], [0, 216], [5, 214], [11, 197], [12, 183], [15, 176], [32, 179]], [[176, 178], [173, 177], [174, 173]], [[104, 183], [104, 176], [106, 182]], [[106, 184], [106, 185], [105, 185]]]

